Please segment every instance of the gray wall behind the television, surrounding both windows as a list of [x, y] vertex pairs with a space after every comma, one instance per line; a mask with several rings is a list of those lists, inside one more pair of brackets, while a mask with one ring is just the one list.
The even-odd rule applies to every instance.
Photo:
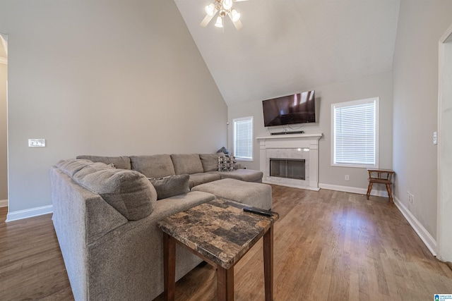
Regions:
[[[367, 189], [367, 171], [365, 168], [349, 168], [331, 166], [331, 104], [336, 102], [347, 102], [356, 99], [380, 97], [380, 154], [379, 165], [381, 168], [392, 168], [392, 73], [381, 73], [377, 75], [339, 82], [322, 87], [310, 87], [316, 90], [316, 120], [315, 124], [307, 123], [298, 128], [299, 125], [291, 126], [294, 130], [304, 130], [305, 133], [323, 133], [319, 141], [319, 183], [328, 188], [339, 190], [350, 190], [357, 188], [359, 191]], [[287, 94], [299, 91], [287, 91]], [[263, 126], [262, 101], [228, 107], [229, 145], [232, 151], [232, 119], [254, 116], [254, 136], [270, 135], [268, 128]], [[278, 132], [278, 127], [272, 127], [271, 131]], [[254, 161], [240, 162], [242, 166], [259, 169], [259, 145], [254, 139]], [[350, 180], [345, 180], [345, 175]], [[350, 189], [352, 188], [352, 189]], [[380, 190], [381, 188], [376, 187]]]

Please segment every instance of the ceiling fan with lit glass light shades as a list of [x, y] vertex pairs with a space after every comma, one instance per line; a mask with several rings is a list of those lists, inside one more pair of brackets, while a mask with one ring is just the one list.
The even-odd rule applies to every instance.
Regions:
[[210, 20], [218, 13], [217, 22], [215, 23], [215, 27], [223, 27], [223, 20], [225, 16], [229, 16], [237, 30], [241, 30], [243, 25], [240, 21], [240, 13], [232, 7], [232, 2], [240, 2], [240, 1], [248, 1], [248, 0], [215, 0], [213, 3], [206, 6], [206, 17], [201, 22], [202, 27], [206, 27]]

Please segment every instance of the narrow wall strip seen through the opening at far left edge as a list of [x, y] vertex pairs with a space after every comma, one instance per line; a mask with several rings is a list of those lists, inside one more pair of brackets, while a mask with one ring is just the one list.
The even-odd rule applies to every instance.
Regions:
[[6, 137], [6, 80], [8, 66], [0, 63], [0, 201], [8, 199], [8, 149]]

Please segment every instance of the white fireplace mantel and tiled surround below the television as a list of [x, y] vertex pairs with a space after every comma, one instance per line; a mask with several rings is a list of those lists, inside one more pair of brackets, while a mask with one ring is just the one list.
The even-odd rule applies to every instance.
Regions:
[[[322, 134], [287, 134], [257, 137], [263, 183], [319, 190], [319, 139]], [[270, 158], [305, 159], [305, 180], [270, 177]]]

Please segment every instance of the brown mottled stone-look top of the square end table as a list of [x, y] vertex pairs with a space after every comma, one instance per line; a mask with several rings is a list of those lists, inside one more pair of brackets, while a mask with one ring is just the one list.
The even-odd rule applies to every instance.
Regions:
[[246, 204], [215, 199], [157, 223], [159, 228], [225, 269], [240, 258], [279, 219], [244, 212]]

